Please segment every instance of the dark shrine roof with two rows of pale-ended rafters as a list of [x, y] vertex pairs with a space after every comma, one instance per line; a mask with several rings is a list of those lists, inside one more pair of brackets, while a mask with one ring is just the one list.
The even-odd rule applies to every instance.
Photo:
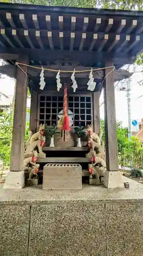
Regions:
[[0, 21], [0, 57], [13, 65], [26, 54], [31, 65], [104, 67], [112, 58], [118, 69], [143, 48], [142, 11], [0, 3]]

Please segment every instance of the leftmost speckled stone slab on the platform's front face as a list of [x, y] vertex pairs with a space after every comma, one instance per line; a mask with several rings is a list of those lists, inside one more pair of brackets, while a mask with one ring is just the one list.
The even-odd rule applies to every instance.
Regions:
[[26, 256], [30, 206], [0, 206], [0, 255]]

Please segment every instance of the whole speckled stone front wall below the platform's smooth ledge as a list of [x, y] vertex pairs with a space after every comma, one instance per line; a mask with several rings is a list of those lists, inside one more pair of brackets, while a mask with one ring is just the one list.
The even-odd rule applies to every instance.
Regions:
[[142, 256], [143, 203], [105, 201], [2, 203], [0, 255]]

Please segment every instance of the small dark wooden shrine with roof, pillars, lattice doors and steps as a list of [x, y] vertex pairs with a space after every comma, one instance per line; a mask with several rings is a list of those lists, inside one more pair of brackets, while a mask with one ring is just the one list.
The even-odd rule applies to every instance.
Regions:
[[[104, 184], [108, 186], [112, 172], [115, 180], [118, 177], [114, 83], [131, 76], [121, 67], [133, 63], [143, 48], [142, 12], [1, 3], [0, 22], [0, 57], [7, 62], [0, 72], [16, 78], [11, 175], [17, 172], [21, 177], [27, 88], [31, 92], [30, 131], [34, 134], [40, 124], [59, 122], [66, 84], [71, 131], [56, 134], [55, 147], [49, 147], [46, 140], [42, 148], [46, 157], [37, 159], [39, 176], [47, 163], [80, 164], [82, 176], [88, 175], [88, 141], [83, 138], [82, 147], [76, 147], [73, 131], [79, 124], [91, 124], [99, 135], [99, 97], [104, 89]], [[113, 183], [111, 186], [118, 186], [117, 181]]]

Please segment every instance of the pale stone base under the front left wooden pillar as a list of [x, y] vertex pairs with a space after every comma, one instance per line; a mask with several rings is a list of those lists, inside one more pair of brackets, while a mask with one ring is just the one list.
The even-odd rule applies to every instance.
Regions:
[[4, 189], [21, 189], [25, 185], [24, 172], [9, 172], [4, 183]]

